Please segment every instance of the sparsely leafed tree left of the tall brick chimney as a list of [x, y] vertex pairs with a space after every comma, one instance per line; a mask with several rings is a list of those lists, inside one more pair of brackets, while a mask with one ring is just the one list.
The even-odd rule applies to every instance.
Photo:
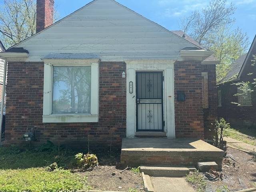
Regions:
[[36, 1], [4, 0], [0, 6], [0, 37], [6, 48], [36, 33]]

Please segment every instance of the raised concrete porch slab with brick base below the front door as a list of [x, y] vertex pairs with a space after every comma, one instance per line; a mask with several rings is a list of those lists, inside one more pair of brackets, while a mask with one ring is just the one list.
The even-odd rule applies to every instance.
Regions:
[[122, 166], [184, 165], [216, 162], [221, 169], [224, 151], [193, 138], [124, 138], [120, 162]]

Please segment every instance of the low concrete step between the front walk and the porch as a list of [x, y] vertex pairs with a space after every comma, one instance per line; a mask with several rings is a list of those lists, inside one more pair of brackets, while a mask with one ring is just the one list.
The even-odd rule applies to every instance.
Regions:
[[185, 166], [140, 166], [140, 172], [155, 177], [184, 177], [189, 169]]

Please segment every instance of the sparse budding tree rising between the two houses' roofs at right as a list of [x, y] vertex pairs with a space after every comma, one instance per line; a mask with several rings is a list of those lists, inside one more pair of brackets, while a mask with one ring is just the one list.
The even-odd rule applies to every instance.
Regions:
[[216, 80], [219, 82], [226, 76], [229, 66], [239, 56], [245, 54], [249, 46], [246, 33], [240, 28], [231, 30], [235, 19], [231, 18], [236, 7], [227, 0], [211, 0], [201, 12], [196, 10], [190, 16], [181, 19], [181, 30], [204, 48], [214, 51], [214, 56], [220, 60], [216, 68]]

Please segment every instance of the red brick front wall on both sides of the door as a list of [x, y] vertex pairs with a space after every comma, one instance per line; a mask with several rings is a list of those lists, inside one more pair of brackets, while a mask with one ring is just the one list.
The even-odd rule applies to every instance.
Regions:
[[[202, 68], [209, 75], [209, 109], [202, 109]], [[100, 62], [99, 121], [97, 123], [42, 123], [44, 63], [10, 62], [6, 108], [6, 144], [26, 144], [21, 136], [26, 128], [37, 127], [35, 145], [51, 140], [55, 144], [86, 148], [121, 147], [126, 137], [126, 78], [124, 62]], [[213, 78], [214, 80], [211, 80]], [[200, 62], [174, 65], [175, 127], [177, 138], [204, 139], [204, 121], [216, 117], [215, 66]], [[211, 88], [213, 87], [213, 88]], [[185, 102], [177, 101], [184, 90]]]

